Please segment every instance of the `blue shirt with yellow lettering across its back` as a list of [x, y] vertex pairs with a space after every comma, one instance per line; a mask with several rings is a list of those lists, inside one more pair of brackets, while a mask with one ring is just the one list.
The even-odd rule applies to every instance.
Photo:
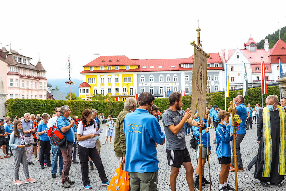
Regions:
[[157, 118], [146, 109], [136, 109], [124, 119], [126, 137], [126, 172], [157, 172], [158, 163], [155, 143], [162, 144], [165, 133]]

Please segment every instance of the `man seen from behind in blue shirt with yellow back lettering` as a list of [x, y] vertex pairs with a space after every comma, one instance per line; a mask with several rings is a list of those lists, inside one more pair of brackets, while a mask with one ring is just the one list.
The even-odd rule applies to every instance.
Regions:
[[165, 143], [165, 134], [157, 118], [150, 115], [155, 100], [149, 92], [138, 97], [139, 109], [128, 113], [123, 131], [126, 137], [125, 168], [130, 172], [131, 190], [156, 191], [158, 163], [156, 143]]

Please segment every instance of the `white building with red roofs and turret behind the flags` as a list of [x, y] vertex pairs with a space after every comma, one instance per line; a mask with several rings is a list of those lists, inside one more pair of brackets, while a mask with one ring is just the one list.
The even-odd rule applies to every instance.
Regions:
[[250, 37], [247, 43], [244, 44], [244, 49], [224, 49], [221, 50], [220, 55], [223, 64], [229, 64], [230, 66], [230, 89], [242, 88], [243, 63], [246, 65], [248, 86], [250, 87], [261, 84], [261, 60], [265, 63], [267, 84], [275, 83], [280, 77], [279, 58], [283, 70], [286, 71], [286, 43], [280, 38], [271, 49], [269, 49], [267, 39], [265, 39], [264, 49], [257, 49], [256, 42]]

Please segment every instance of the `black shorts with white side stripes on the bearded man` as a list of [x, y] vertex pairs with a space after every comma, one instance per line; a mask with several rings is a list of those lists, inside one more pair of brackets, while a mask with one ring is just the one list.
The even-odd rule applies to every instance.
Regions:
[[183, 162], [191, 162], [191, 157], [187, 148], [178, 151], [166, 149], [166, 151], [169, 166], [181, 168]]

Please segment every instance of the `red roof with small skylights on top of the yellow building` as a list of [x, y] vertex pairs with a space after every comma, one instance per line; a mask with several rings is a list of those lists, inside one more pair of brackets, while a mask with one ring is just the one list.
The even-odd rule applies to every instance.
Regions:
[[134, 63], [129, 58], [127, 58], [127, 56], [100, 56], [84, 66], [122, 66], [122, 65], [137, 65], [137, 64]]

